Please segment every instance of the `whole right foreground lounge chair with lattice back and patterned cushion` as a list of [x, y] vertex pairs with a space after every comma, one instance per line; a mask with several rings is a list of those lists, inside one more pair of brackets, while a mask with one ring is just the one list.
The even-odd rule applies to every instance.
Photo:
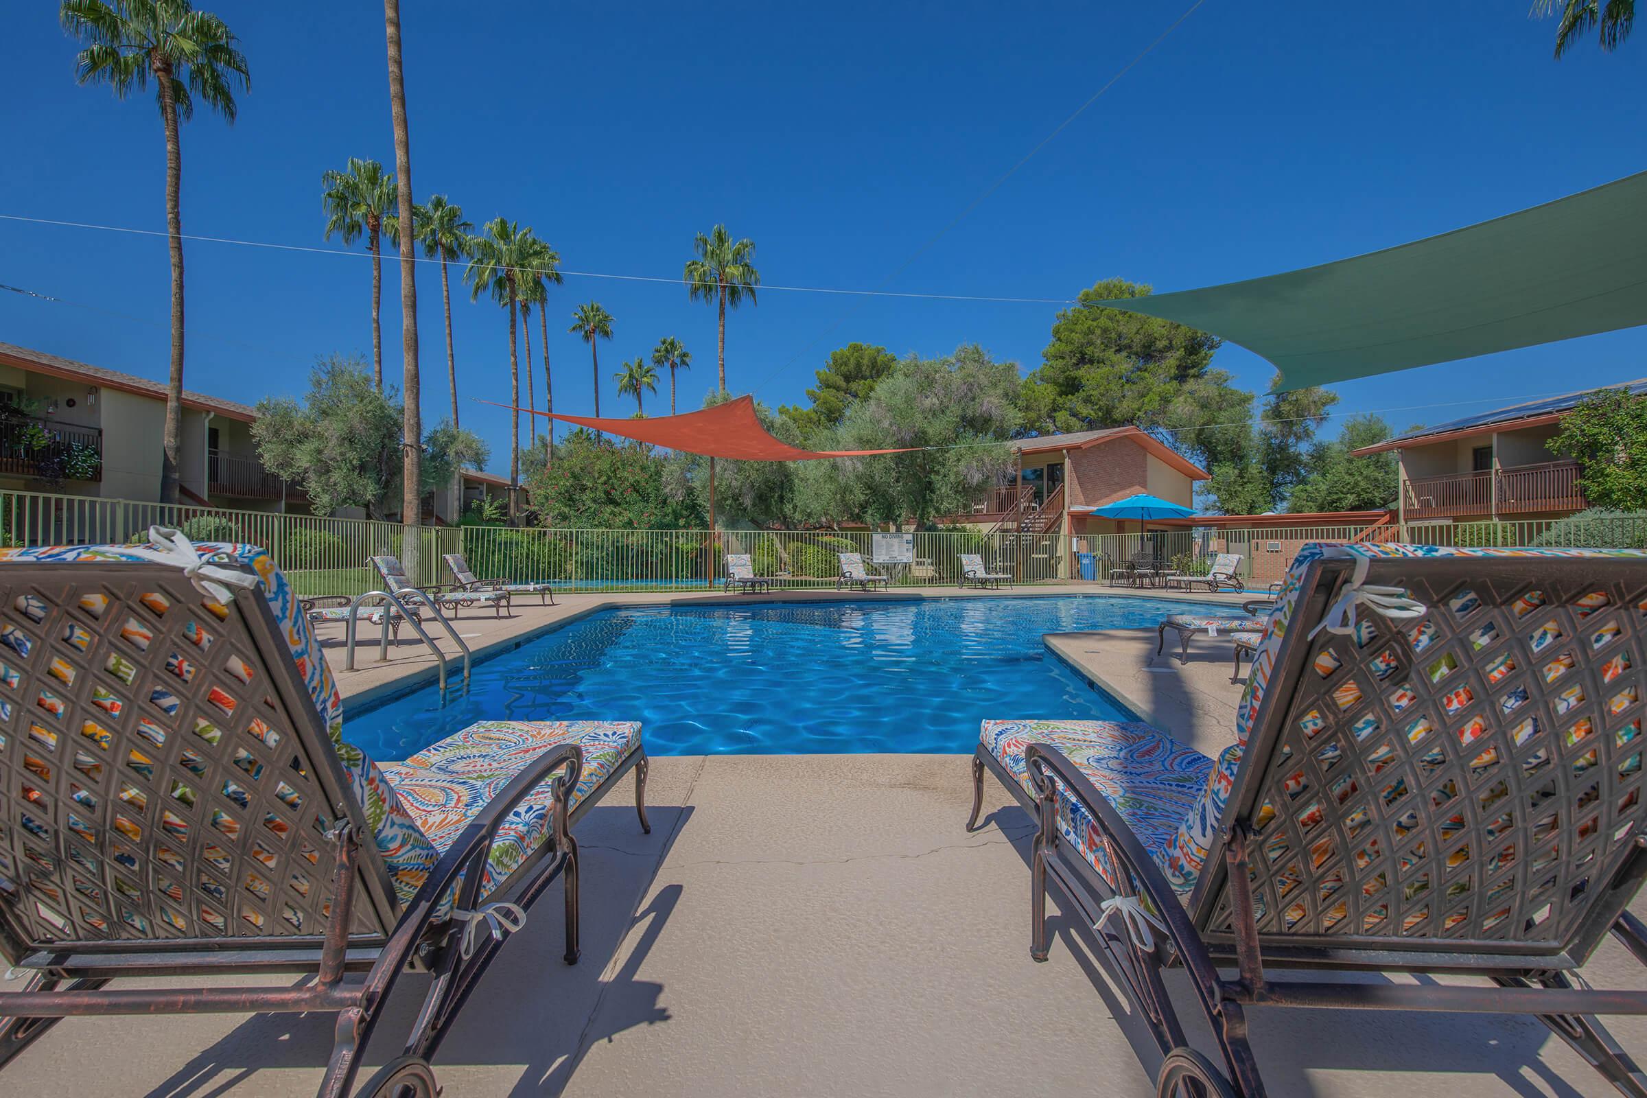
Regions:
[[[1639, 550], [1306, 545], [1217, 761], [1141, 724], [985, 721], [968, 826], [985, 770], [1036, 815], [1029, 953], [1056, 884], [1161, 1095], [1263, 1095], [1245, 1011], [1276, 1004], [1537, 1016], [1639, 1096], [1591, 1016], [1647, 1014], [1647, 991], [1573, 973], [1607, 933], [1647, 963], [1644, 604]], [[1164, 966], [1222, 1063], [1187, 1047]], [[1492, 986], [1270, 971], [1298, 968]]]

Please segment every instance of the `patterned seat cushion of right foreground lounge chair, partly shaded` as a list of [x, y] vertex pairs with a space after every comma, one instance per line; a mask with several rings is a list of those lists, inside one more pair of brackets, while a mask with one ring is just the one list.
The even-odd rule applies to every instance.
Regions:
[[[1163, 869], [1168, 844], [1212, 772], [1212, 759], [1135, 721], [985, 721], [978, 739], [1031, 795], [1024, 752], [1029, 744], [1057, 747], [1103, 793]], [[1094, 869], [1113, 882], [1097, 825], [1062, 787], [1057, 826]]]

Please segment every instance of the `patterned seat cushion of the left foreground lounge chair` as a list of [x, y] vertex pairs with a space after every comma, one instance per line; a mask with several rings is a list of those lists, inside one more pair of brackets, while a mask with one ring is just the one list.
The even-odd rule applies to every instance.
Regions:
[[[572, 803], [576, 805], [639, 746], [641, 724], [479, 721], [405, 762], [382, 764], [382, 770], [417, 820], [418, 830], [435, 849], [445, 853], [522, 767], [565, 742], [583, 747], [583, 772], [572, 793]], [[552, 793], [550, 782], [545, 782], [509, 813], [492, 843], [486, 879], [481, 882], [483, 894], [502, 884], [548, 838]]]

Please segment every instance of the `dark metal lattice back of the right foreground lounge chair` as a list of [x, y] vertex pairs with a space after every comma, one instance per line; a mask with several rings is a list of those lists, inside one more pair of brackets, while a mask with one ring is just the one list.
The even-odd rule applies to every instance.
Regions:
[[[1357, 563], [1421, 616], [1359, 606], [1347, 632], [1318, 627], [1346, 627]], [[1581, 963], [1647, 872], [1647, 556], [1324, 548], [1293, 581], [1243, 700], [1252, 736], [1224, 813], [1250, 830], [1267, 955]], [[1189, 909], [1229, 940], [1217, 843]]]

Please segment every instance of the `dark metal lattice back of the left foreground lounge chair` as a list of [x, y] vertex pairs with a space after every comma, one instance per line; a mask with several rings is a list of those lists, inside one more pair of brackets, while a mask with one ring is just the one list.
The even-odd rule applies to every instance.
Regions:
[[[13, 960], [318, 947], [328, 831], [366, 826], [264, 598], [166, 565], [0, 566], [0, 782]], [[362, 877], [354, 932], [379, 937], [392, 891], [374, 858]]]

